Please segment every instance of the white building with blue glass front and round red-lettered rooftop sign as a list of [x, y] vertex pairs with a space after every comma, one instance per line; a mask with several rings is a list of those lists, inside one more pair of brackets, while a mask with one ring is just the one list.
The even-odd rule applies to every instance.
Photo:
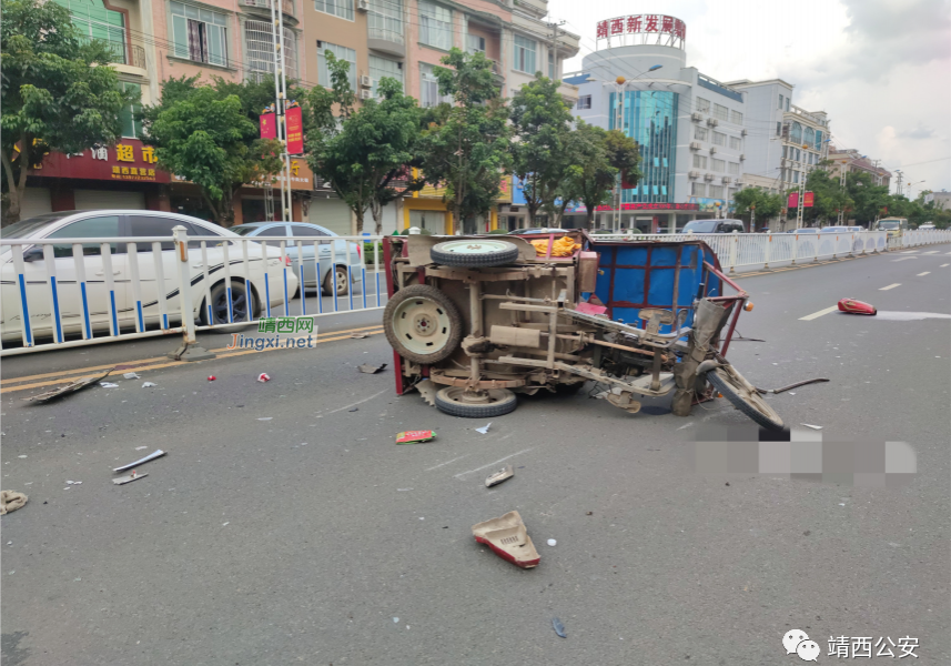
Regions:
[[[596, 224], [672, 232], [727, 214], [747, 152], [743, 93], [687, 67], [686, 26], [674, 17], [600, 21], [597, 41], [584, 70], [565, 77], [578, 85], [575, 113], [635, 139], [644, 175], [598, 209]], [[579, 225], [584, 213], [569, 209], [564, 224]]]

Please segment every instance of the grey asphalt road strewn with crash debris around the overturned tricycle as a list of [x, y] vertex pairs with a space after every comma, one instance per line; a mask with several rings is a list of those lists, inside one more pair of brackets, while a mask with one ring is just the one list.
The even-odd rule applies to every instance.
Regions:
[[[389, 369], [358, 373], [392, 363], [380, 334], [44, 406], [6, 392], [2, 485], [30, 500], [2, 518], [3, 663], [796, 664], [793, 628], [819, 664], [839, 660], [830, 636], [909, 636], [915, 664], [951, 663], [951, 321], [800, 319], [842, 296], [949, 315], [949, 251], [741, 280], [756, 309], [739, 330], [766, 342], [736, 342], [734, 364], [767, 387], [830, 377], [772, 404], [828, 441], [910, 443], [919, 473], [898, 488], [695, 473], [691, 433], [746, 423], [722, 400], [677, 418], [664, 401], [629, 415], [585, 393], [520, 397], [482, 435], [396, 397]], [[42, 363], [6, 360], [4, 390]], [[396, 446], [408, 428], [438, 437]], [[148, 477], [110, 483], [155, 448]], [[485, 488], [505, 462], [515, 477]], [[535, 569], [472, 537], [512, 509]]]

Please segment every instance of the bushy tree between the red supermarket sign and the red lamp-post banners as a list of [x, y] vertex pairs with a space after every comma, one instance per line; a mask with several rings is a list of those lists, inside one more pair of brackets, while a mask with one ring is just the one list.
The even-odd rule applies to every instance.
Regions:
[[159, 167], [199, 185], [214, 221], [231, 226], [235, 192], [280, 172], [281, 145], [259, 139], [261, 84], [196, 82], [170, 79], [160, 103], [142, 110], [145, 141]]

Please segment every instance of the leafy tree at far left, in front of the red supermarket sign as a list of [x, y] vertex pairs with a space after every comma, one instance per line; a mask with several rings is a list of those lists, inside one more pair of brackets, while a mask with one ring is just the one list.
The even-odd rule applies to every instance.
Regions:
[[55, 2], [8, 0], [0, 23], [0, 151], [3, 225], [19, 221], [30, 168], [121, 137], [120, 111], [139, 101], [119, 89], [109, 46], [80, 39]]

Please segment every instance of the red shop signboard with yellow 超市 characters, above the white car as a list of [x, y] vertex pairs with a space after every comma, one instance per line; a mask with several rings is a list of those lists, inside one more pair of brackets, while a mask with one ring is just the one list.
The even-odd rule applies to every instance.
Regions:
[[155, 149], [138, 139], [123, 139], [115, 145], [90, 148], [65, 155], [50, 153], [31, 175], [81, 180], [111, 180], [168, 183], [168, 172], [155, 168]]

